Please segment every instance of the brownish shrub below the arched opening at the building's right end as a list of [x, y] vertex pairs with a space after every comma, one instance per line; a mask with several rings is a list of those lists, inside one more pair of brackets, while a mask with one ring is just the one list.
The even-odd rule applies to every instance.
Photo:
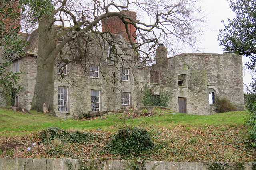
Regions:
[[218, 105], [218, 108], [217, 108], [218, 113], [237, 111], [236, 106], [230, 103], [229, 100], [226, 98], [222, 98], [222, 99], [217, 98], [215, 104]]

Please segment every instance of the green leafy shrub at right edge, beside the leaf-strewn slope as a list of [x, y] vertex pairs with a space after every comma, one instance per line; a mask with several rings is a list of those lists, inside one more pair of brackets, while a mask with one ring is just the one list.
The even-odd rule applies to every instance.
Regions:
[[248, 110], [249, 119], [246, 121], [247, 128], [249, 130], [248, 135], [251, 141], [251, 146], [256, 147], [256, 104], [252, 105], [252, 109]]

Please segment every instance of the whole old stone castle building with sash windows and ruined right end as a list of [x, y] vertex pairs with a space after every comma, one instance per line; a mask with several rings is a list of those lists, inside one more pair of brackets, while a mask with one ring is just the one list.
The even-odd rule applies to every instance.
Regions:
[[[131, 14], [136, 19], [136, 13]], [[118, 55], [111, 55], [111, 47], [103, 39], [88, 34], [85, 37], [93, 40], [84, 45], [88, 48], [86, 59], [65, 67], [61, 67], [62, 63], [57, 60], [54, 85], [56, 115], [71, 117], [86, 111], [113, 111], [137, 104], [143, 106], [141, 94], [146, 85], [154, 96], [160, 91], [168, 92], [168, 106], [176, 112], [215, 113], [216, 98], [227, 98], [238, 109], [244, 109], [242, 56], [233, 53], [185, 53], [168, 57], [167, 48], [160, 45], [156, 49], [156, 63], [148, 66], [134, 57], [127, 43], [128, 37], [122, 31], [123, 25], [117, 18], [107, 18], [102, 23], [103, 30], [114, 33]], [[135, 28], [130, 27], [129, 31], [132, 35]], [[15, 103], [26, 109], [31, 108], [36, 82], [37, 37], [37, 31], [29, 35], [26, 56], [12, 64], [14, 72], [24, 72], [19, 81], [24, 90], [16, 96]], [[68, 56], [68, 53], [68, 50], [63, 50], [64, 55]]]

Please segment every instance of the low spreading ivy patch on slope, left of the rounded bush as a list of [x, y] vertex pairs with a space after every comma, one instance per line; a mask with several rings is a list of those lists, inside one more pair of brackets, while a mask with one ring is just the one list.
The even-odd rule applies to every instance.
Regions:
[[96, 136], [91, 133], [86, 133], [82, 131], [66, 131], [61, 129], [60, 127], [48, 127], [39, 135], [41, 141], [46, 143], [48, 141], [58, 139], [63, 142], [71, 142], [71, 143], [84, 143], [91, 141]]

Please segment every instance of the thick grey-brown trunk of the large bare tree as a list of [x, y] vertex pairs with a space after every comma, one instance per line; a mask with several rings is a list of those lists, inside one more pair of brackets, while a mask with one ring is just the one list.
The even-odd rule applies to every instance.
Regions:
[[39, 21], [38, 33], [38, 54], [37, 54], [37, 72], [36, 86], [32, 100], [32, 110], [43, 111], [43, 105], [46, 104], [49, 111], [54, 112], [53, 94], [54, 94], [54, 65], [56, 53], [55, 30], [52, 18], [44, 18]]

